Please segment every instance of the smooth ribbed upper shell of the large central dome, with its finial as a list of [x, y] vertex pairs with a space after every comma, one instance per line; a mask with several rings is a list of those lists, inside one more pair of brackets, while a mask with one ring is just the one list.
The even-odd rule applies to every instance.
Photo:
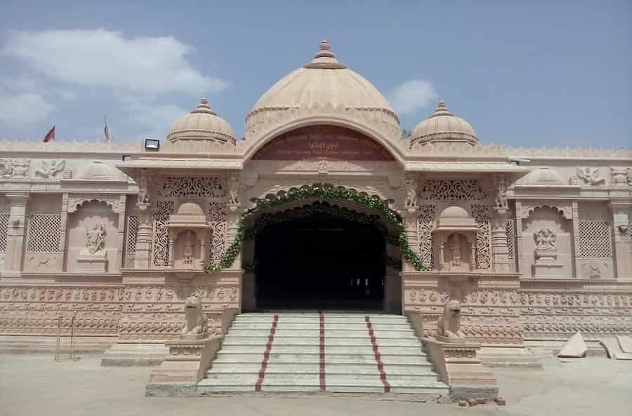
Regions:
[[312, 62], [290, 72], [275, 83], [254, 105], [251, 113], [314, 105], [343, 106], [345, 109], [382, 109], [399, 119], [386, 98], [367, 79], [348, 69], [329, 51], [329, 42], [320, 43]]

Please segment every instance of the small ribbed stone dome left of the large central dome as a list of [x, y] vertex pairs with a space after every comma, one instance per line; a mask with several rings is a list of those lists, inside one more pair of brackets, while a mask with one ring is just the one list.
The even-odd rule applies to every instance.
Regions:
[[206, 98], [202, 98], [197, 108], [173, 123], [169, 135], [169, 142], [174, 145], [178, 142], [230, 142], [235, 144], [235, 133], [232, 133], [230, 125], [219, 117]]

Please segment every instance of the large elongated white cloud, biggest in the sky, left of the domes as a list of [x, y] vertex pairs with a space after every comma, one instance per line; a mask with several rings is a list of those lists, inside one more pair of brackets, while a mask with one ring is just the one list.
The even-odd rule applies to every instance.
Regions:
[[197, 96], [228, 85], [193, 69], [187, 59], [192, 46], [173, 36], [126, 39], [103, 28], [11, 31], [1, 51], [50, 79], [79, 86]]

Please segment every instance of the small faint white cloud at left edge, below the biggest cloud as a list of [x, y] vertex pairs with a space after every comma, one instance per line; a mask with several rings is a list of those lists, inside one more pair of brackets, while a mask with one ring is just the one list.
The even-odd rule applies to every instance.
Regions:
[[9, 126], [37, 123], [53, 112], [55, 105], [37, 93], [4, 93], [0, 91], [0, 121]]

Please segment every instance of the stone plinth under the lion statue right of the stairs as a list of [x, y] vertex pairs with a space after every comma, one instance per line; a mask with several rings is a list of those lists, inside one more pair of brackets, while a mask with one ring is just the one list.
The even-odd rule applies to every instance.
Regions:
[[449, 340], [422, 339], [439, 373], [439, 380], [450, 388], [450, 397], [495, 398], [498, 395], [496, 377], [492, 371], [483, 367], [482, 361], [476, 356], [480, 344], [462, 338]]

